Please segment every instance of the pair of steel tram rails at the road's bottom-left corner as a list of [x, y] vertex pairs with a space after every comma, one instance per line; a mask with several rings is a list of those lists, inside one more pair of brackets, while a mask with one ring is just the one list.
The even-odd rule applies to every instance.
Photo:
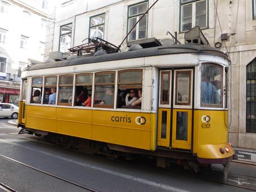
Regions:
[[[30, 168], [30, 169], [35, 170], [35, 171], [38, 171], [38, 172], [40, 172], [40, 173], [49, 175], [49, 176], [51, 176], [52, 178], [59, 179], [59, 180], [61, 180], [61, 181], [64, 181], [65, 183], [69, 183], [69, 184], [78, 186], [79, 188], [85, 189], [86, 191], [100, 192], [99, 190], [90, 188], [89, 186], [82, 185], [82, 184], [79, 184], [79, 183], [75, 183], [74, 181], [71, 181], [71, 180], [68, 180], [68, 179], [65, 179], [65, 178], [61, 178], [60, 176], [51, 174], [51, 173], [49, 173], [49, 172], [47, 172], [47, 171], [44, 171], [44, 170], [41, 170], [41, 169], [37, 169], [37, 168], [35, 168], [35, 167], [33, 167], [33, 166], [30, 166], [30, 165], [27, 165], [27, 164], [25, 164], [25, 163], [21, 163], [20, 161], [11, 159], [11, 158], [9, 158], [9, 157], [7, 157], [7, 156], [0, 155], [0, 157], [1, 157], [2, 159], [4, 159], [4, 160], [11, 161], [12, 163], [16, 163], [16, 164], [18, 164], [18, 165], [25, 166], [26, 168]], [[10, 191], [10, 192], [17, 192], [16, 190], [13, 190], [12, 188], [9, 188], [7, 185], [1, 184], [1, 183], [0, 183], [0, 188], [2, 188], [2, 189], [4, 188], [3, 190]]]

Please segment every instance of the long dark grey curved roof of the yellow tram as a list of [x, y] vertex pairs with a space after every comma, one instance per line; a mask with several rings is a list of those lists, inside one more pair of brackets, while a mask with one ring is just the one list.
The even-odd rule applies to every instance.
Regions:
[[105, 61], [125, 60], [129, 58], [174, 55], [174, 54], [185, 54], [185, 53], [196, 53], [200, 55], [214, 55], [214, 56], [220, 56], [229, 60], [228, 55], [226, 55], [225, 53], [221, 52], [220, 50], [214, 47], [205, 46], [205, 45], [182, 44], [182, 45], [143, 48], [140, 50], [111, 53], [108, 55], [101, 55], [101, 56], [80, 57], [72, 60], [37, 63], [30, 67], [26, 67], [23, 71], [40, 70], [44, 68], [64, 67], [64, 66], [72, 66], [72, 65], [82, 65], [87, 63], [98, 63], [98, 62], [105, 62]]

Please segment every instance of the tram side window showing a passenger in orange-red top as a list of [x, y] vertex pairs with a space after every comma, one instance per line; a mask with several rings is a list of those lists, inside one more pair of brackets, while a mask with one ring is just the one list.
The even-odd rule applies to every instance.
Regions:
[[75, 106], [91, 106], [93, 74], [79, 74], [75, 77]]

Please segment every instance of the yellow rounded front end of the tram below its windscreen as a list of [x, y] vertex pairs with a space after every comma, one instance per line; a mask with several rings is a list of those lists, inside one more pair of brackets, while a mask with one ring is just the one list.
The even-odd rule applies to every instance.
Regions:
[[[194, 153], [199, 159], [225, 159], [234, 154], [228, 142], [228, 120], [226, 110], [195, 110]], [[228, 151], [220, 152], [228, 147]], [[217, 163], [217, 162], [216, 162]]]

